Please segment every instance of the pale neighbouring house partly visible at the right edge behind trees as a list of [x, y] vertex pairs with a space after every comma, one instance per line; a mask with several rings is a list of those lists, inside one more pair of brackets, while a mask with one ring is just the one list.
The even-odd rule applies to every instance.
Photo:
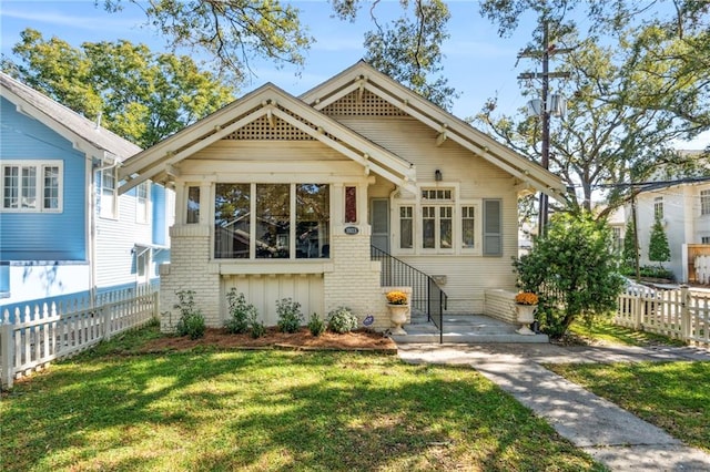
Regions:
[[[698, 151], [681, 152], [701, 156]], [[708, 166], [706, 164], [710, 172]], [[710, 256], [710, 175], [671, 179], [659, 175], [657, 181], [646, 185], [636, 198], [639, 263], [641, 266], [659, 264], [648, 257], [651, 230], [658, 217], [670, 247], [670, 261], [661, 265], [673, 273], [676, 281], [693, 283], [694, 258]]]

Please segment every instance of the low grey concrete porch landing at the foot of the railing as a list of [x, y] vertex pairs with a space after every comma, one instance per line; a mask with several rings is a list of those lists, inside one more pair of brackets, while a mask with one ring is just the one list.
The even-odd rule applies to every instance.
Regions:
[[[406, 335], [393, 335], [397, 343], [439, 342], [439, 330], [427, 321], [426, 315], [412, 314], [412, 322], [405, 325]], [[523, 336], [516, 330], [518, 325], [509, 325], [483, 315], [445, 315], [444, 342], [490, 343], [490, 342], [549, 342], [547, 335]]]

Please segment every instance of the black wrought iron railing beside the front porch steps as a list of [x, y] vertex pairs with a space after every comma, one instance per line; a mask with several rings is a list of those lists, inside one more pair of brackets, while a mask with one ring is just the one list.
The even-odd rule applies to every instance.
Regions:
[[412, 287], [409, 304], [413, 311], [424, 312], [439, 330], [439, 341], [444, 339], [444, 310], [446, 293], [436, 280], [416, 267], [393, 257], [390, 254], [372, 246], [373, 260], [382, 264], [379, 281], [382, 286]]

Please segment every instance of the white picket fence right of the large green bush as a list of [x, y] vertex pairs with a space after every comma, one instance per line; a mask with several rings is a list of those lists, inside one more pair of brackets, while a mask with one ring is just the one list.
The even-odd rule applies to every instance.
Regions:
[[619, 296], [613, 322], [710, 347], [710, 294], [635, 288]]

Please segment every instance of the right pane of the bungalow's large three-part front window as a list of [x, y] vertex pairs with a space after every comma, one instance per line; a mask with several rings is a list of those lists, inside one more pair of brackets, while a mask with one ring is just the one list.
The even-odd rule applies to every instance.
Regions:
[[297, 258], [331, 257], [329, 201], [329, 189], [325, 184], [296, 185]]

